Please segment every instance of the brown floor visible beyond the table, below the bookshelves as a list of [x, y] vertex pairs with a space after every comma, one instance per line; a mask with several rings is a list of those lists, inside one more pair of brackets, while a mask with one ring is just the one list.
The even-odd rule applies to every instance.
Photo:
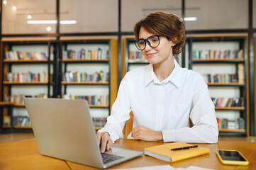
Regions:
[[[8, 143], [8, 142], [16, 142], [19, 140], [28, 140], [32, 139], [35, 136], [32, 132], [26, 132], [26, 133], [9, 133], [9, 134], [0, 134], [0, 144]], [[256, 142], [256, 137], [218, 137], [219, 141], [234, 141], [234, 142]]]

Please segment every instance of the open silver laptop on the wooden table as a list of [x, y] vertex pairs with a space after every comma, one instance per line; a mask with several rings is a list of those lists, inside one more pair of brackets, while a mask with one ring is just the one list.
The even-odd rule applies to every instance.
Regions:
[[101, 154], [87, 101], [24, 98], [24, 103], [40, 154], [101, 169], [143, 155], [118, 147]]

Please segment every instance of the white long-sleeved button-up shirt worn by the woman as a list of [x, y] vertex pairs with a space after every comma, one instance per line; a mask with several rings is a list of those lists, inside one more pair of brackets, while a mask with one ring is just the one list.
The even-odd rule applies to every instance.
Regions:
[[155, 76], [152, 64], [126, 73], [111, 115], [99, 132], [108, 132], [113, 141], [122, 138], [123, 127], [133, 111], [133, 128], [144, 125], [162, 130], [164, 142], [217, 142], [218, 124], [206, 83], [199, 73], [180, 67], [175, 60], [174, 65], [162, 82]]

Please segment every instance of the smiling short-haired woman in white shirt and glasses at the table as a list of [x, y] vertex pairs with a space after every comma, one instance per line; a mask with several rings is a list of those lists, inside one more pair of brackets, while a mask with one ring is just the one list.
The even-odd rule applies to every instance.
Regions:
[[131, 70], [121, 81], [111, 115], [97, 132], [101, 152], [123, 137], [130, 111], [134, 120], [128, 138], [217, 142], [218, 124], [207, 85], [200, 74], [174, 60], [185, 43], [182, 20], [171, 13], [150, 13], [135, 24], [134, 34], [136, 47], [150, 64]]

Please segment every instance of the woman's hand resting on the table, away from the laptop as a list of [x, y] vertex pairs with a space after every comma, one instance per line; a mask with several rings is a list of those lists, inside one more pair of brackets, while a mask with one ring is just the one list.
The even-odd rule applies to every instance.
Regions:
[[132, 130], [132, 137], [135, 140], [145, 140], [145, 141], [160, 141], [162, 138], [162, 131], [155, 131], [146, 128], [143, 125], [137, 126]]

